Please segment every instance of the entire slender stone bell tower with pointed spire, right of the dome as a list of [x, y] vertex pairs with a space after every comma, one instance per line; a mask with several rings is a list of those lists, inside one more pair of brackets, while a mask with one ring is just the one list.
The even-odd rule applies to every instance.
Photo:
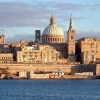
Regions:
[[69, 62], [75, 62], [75, 30], [73, 27], [73, 18], [72, 15], [70, 17], [70, 25], [69, 30], [67, 32], [67, 43], [68, 43], [68, 60]]

